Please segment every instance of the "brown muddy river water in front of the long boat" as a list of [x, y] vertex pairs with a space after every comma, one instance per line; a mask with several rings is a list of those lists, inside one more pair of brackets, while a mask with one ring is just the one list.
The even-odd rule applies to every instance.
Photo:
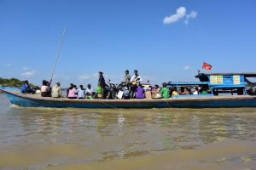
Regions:
[[256, 170], [256, 108], [20, 108], [0, 94], [0, 169]]

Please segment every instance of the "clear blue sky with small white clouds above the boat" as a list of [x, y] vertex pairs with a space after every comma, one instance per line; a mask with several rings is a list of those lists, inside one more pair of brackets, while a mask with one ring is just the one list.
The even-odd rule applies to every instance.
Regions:
[[254, 0], [0, 0], [0, 77], [54, 82], [120, 82], [126, 69], [152, 83], [211, 72], [255, 72]]

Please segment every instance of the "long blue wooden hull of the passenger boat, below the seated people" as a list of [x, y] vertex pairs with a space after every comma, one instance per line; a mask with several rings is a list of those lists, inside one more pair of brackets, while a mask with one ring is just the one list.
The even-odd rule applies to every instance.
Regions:
[[256, 107], [256, 96], [197, 96], [170, 99], [67, 99], [42, 98], [38, 94], [20, 94], [4, 90], [13, 105], [54, 108], [214, 108]]

